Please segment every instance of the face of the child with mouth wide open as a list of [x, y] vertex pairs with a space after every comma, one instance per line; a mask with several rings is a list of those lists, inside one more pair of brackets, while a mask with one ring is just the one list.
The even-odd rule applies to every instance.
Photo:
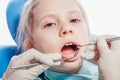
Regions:
[[[86, 22], [75, 0], [40, 0], [33, 9], [33, 16], [32, 43], [34, 48], [43, 53], [59, 53], [68, 58], [74, 56], [75, 49], [67, 44], [89, 42]], [[84, 48], [78, 50], [73, 59], [51, 69], [65, 73], [77, 71], [81, 66]]]

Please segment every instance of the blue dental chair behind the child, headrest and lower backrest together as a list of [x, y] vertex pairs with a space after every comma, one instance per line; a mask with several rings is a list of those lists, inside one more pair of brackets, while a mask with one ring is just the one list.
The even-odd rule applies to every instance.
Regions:
[[[7, 10], [7, 24], [13, 40], [15, 41], [17, 26], [21, 11], [26, 0], [10, 0]], [[17, 50], [16, 45], [0, 46], [0, 77], [6, 71], [9, 61], [12, 56], [18, 55], [20, 52]]]

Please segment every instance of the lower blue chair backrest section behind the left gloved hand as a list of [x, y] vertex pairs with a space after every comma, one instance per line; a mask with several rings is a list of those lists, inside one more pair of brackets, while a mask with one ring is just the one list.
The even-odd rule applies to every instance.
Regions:
[[0, 77], [6, 71], [9, 61], [13, 55], [17, 55], [16, 46], [0, 46]]

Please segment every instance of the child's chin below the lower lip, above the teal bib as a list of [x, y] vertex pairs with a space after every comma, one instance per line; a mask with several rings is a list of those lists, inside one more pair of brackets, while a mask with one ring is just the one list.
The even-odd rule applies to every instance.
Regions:
[[82, 66], [80, 59], [74, 62], [63, 62], [60, 66], [51, 67], [50, 70], [60, 73], [72, 74], [76, 73]]

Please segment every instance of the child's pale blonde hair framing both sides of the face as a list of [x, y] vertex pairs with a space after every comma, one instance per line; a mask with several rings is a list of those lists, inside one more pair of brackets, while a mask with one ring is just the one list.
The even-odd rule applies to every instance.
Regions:
[[[18, 44], [18, 49], [24, 51], [23, 43], [26, 38], [30, 38], [31, 30], [32, 30], [32, 23], [33, 23], [33, 13], [32, 10], [37, 6], [40, 0], [27, 0], [25, 6], [23, 8], [23, 12], [21, 14], [21, 18], [18, 25], [16, 42]], [[77, 0], [76, 0], [77, 1]], [[86, 25], [88, 26], [88, 20], [85, 14], [85, 11], [81, 4], [76, 2], [80, 7], [83, 17], [86, 21]]]

